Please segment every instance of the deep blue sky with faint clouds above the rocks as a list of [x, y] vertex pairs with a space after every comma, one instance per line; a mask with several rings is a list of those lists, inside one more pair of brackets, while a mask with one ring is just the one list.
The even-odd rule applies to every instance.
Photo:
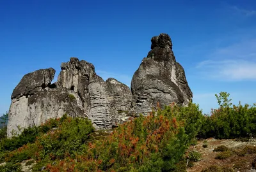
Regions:
[[[0, 114], [26, 73], [70, 57], [131, 85], [150, 39], [171, 36], [193, 102], [208, 113], [214, 94], [256, 103], [256, 1], [1, 1]], [[56, 75], [56, 76], [57, 76]], [[56, 79], [55, 79], [56, 80]]]

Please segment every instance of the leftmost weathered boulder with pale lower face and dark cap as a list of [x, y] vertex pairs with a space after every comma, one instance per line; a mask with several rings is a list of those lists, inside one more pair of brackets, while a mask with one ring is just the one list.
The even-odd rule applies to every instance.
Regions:
[[[40, 69], [20, 80], [13, 90], [15, 96], [9, 110], [8, 137], [20, 134], [25, 128], [41, 125], [49, 118], [60, 118], [65, 113], [84, 117], [83, 106], [79, 106], [81, 99], [74, 91], [51, 88], [54, 73], [52, 68]], [[26, 81], [31, 85], [26, 85]]]

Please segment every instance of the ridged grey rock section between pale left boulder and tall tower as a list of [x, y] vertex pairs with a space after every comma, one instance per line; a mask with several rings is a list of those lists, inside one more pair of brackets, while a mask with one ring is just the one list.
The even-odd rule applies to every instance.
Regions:
[[[104, 82], [96, 75], [93, 64], [73, 57], [70, 62], [61, 64], [57, 85], [74, 90], [81, 97], [84, 111], [96, 129], [109, 129], [125, 119], [127, 113], [123, 112], [129, 109], [124, 108], [123, 104], [128, 103], [126, 106], [130, 107], [132, 97], [129, 87], [117, 80], [114, 83], [113, 80], [115, 79], [111, 78]], [[116, 96], [117, 94], [121, 97]], [[129, 96], [124, 98], [127, 95]]]

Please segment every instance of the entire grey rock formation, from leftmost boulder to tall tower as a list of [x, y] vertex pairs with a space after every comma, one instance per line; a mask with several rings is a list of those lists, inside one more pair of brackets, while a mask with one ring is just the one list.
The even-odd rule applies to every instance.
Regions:
[[175, 60], [168, 34], [152, 39], [150, 52], [134, 73], [131, 90], [114, 78], [106, 82], [93, 64], [76, 57], [61, 64], [56, 83], [55, 70], [40, 69], [23, 76], [12, 93], [7, 134], [40, 125], [65, 113], [90, 118], [96, 129], [111, 129], [131, 115], [147, 115], [157, 103], [186, 105], [192, 100], [184, 69]]

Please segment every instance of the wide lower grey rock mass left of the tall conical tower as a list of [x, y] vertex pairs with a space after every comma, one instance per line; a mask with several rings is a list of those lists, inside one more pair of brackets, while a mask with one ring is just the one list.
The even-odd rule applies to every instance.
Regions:
[[127, 85], [96, 75], [93, 64], [72, 57], [61, 64], [58, 81], [51, 84], [55, 70], [40, 69], [25, 75], [13, 90], [8, 136], [40, 125], [65, 113], [88, 117], [96, 129], [111, 129], [127, 120], [132, 94]]

